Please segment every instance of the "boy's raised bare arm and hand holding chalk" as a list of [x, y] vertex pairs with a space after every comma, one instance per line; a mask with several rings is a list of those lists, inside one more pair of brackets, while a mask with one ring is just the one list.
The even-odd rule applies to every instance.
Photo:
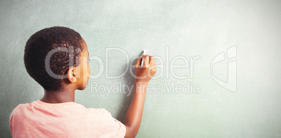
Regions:
[[[142, 59], [144, 60], [143, 66], [140, 66]], [[148, 56], [146, 54], [136, 61], [135, 91], [124, 121], [124, 125], [126, 126], [125, 137], [136, 137], [138, 133], [138, 128], [140, 128], [141, 125], [141, 116], [143, 115], [147, 84], [156, 72], [153, 56]]]

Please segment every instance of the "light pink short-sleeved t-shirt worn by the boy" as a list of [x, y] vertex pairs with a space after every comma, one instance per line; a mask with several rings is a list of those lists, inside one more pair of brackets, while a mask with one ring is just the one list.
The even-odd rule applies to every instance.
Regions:
[[126, 128], [106, 109], [36, 100], [13, 109], [10, 132], [13, 137], [124, 137]]

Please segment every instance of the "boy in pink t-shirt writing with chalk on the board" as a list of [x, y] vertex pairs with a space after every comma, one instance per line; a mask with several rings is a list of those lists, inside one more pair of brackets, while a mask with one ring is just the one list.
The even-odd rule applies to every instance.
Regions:
[[106, 109], [74, 102], [75, 90], [87, 86], [88, 60], [85, 40], [72, 29], [54, 26], [29, 38], [24, 65], [45, 94], [41, 100], [15, 107], [10, 115], [13, 137], [136, 137], [146, 87], [156, 73], [154, 57], [143, 55], [136, 61], [134, 96], [124, 124]]

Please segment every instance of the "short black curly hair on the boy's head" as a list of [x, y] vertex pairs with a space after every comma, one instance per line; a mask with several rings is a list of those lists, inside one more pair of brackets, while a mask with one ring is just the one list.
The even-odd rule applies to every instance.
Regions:
[[50, 56], [50, 70], [55, 75], [65, 75], [69, 67], [80, 65], [82, 37], [67, 27], [53, 26], [37, 31], [27, 40], [24, 49], [24, 65], [27, 72], [47, 91], [60, 91], [64, 88], [62, 79], [49, 75], [45, 67], [46, 56], [56, 48], [69, 50], [60, 50]]

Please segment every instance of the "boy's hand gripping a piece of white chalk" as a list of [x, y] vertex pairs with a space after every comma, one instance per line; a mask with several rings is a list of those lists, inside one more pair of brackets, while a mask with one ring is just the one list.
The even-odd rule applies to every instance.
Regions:
[[[143, 66], [141, 66], [141, 61], [143, 60]], [[143, 82], [148, 84], [150, 79], [156, 74], [155, 59], [153, 56], [148, 56], [147, 54], [141, 56], [136, 61], [135, 73], [136, 82]]]

